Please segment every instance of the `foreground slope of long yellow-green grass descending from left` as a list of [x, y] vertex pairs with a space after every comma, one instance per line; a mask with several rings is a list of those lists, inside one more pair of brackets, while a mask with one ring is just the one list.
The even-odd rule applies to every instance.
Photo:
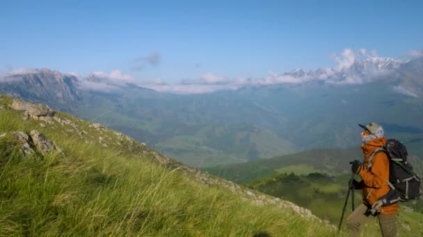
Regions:
[[[10, 99], [0, 98], [0, 104]], [[0, 134], [37, 129], [65, 149], [23, 157], [10, 136], [0, 140], [0, 236], [333, 236], [321, 222], [278, 205], [253, 204], [228, 188], [202, 184], [180, 169], [154, 161], [154, 151], [99, 144], [103, 136], [66, 114], [88, 132], [79, 137], [54, 122], [22, 121], [0, 109]], [[70, 129], [70, 128], [69, 128]], [[88, 143], [86, 143], [87, 141]]]

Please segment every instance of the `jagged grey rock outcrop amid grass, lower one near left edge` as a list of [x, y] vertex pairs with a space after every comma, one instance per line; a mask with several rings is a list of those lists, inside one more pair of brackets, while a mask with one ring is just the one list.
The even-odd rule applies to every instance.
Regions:
[[[64, 155], [65, 151], [57, 146], [54, 141], [51, 141], [45, 137], [44, 134], [37, 130], [32, 130], [30, 134], [25, 132], [11, 132], [12, 138], [17, 142], [19, 146], [19, 152], [23, 155], [32, 155], [35, 152], [40, 152], [42, 155], [47, 155], [49, 152], [58, 152], [60, 155]], [[3, 133], [0, 137], [6, 137], [8, 134]]]

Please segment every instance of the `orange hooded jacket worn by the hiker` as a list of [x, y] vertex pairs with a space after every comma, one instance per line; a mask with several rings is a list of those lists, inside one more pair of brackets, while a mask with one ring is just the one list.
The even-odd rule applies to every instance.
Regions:
[[[373, 157], [373, 165], [370, 170], [367, 170], [369, 158], [372, 152], [377, 148], [381, 148], [386, 142], [384, 137], [373, 139], [361, 146], [361, 150], [365, 155], [362, 169], [358, 173], [364, 183], [362, 188], [362, 199], [365, 204], [372, 205], [379, 198], [390, 191], [390, 187], [386, 180], [389, 180], [389, 159], [385, 152], [378, 152]], [[396, 212], [398, 204], [392, 204], [387, 207], [382, 207], [381, 214], [391, 214]]]

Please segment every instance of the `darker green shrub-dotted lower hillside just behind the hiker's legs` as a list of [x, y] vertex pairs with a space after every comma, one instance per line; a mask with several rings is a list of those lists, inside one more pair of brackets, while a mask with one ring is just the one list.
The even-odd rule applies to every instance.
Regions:
[[[274, 175], [256, 179], [247, 184], [250, 188], [273, 195], [278, 198], [286, 199], [301, 207], [310, 209], [314, 215], [324, 220], [329, 220], [333, 225], [338, 225], [342, 215], [342, 207], [346, 198], [349, 175], [338, 177], [328, 177], [318, 173], [310, 175], [297, 176], [293, 173]], [[356, 191], [356, 207], [361, 202], [360, 191]], [[404, 204], [401, 204], [399, 212], [399, 233], [401, 236], [421, 236], [423, 234], [423, 209], [422, 200], [408, 202], [407, 205], [420, 208], [417, 212], [410, 211]], [[351, 199], [347, 204], [346, 216], [351, 213]], [[345, 216], [345, 217], [346, 217]], [[372, 222], [373, 223], [373, 222]], [[370, 236], [374, 236], [372, 230], [373, 224], [365, 229]], [[408, 230], [408, 227], [412, 231]], [[376, 229], [378, 227], [376, 226]]]

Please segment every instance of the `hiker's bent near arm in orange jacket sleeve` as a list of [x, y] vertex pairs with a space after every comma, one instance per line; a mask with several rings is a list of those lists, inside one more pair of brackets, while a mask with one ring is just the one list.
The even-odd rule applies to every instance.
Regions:
[[360, 176], [365, 186], [370, 188], [381, 188], [385, 180], [389, 179], [389, 163], [385, 153], [381, 152], [376, 154], [373, 159], [371, 171], [369, 172], [367, 168], [362, 168], [360, 170]]

